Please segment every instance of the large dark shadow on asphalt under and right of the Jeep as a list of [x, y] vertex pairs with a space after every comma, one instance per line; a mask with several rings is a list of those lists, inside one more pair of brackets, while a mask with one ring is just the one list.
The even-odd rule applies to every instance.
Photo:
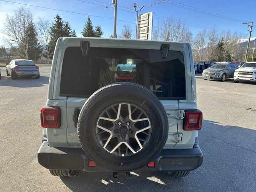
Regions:
[[[204, 162], [187, 177], [162, 172], [136, 172], [118, 182], [112, 172], [80, 172], [61, 178], [72, 191], [255, 191], [256, 131], [204, 120], [199, 144]], [[232, 179], [231, 179], [232, 178]]]

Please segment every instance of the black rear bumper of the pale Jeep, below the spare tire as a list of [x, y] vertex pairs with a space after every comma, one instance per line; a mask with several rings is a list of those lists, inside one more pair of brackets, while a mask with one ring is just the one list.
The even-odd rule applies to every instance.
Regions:
[[[54, 148], [44, 141], [38, 150], [38, 162], [47, 169], [84, 170], [87, 172], [112, 172], [101, 166], [89, 167], [88, 156], [82, 148]], [[198, 144], [192, 149], [164, 149], [155, 160], [154, 167], [144, 166], [138, 172], [194, 170], [203, 162]]]

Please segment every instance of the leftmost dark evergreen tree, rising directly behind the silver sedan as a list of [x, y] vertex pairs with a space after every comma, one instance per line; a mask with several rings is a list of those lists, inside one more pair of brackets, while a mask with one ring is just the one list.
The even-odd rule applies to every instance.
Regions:
[[[34, 61], [38, 60], [42, 54], [42, 46], [38, 41], [38, 32], [36, 31], [35, 25], [32, 21], [28, 23], [28, 27], [26, 28], [24, 36], [26, 37], [26, 39], [22, 39], [21, 44], [25, 44], [25, 41], [28, 42], [28, 59]], [[24, 53], [22, 52], [22, 50], [19, 50], [19, 52], [21, 53], [20, 56], [24, 58]]]

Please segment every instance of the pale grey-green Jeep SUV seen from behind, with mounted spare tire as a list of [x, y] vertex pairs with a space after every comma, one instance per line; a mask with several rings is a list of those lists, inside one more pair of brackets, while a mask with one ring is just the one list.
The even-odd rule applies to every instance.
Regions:
[[[140, 62], [117, 70], [127, 59]], [[54, 176], [186, 176], [203, 161], [193, 68], [188, 43], [59, 38], [38, 162]]]

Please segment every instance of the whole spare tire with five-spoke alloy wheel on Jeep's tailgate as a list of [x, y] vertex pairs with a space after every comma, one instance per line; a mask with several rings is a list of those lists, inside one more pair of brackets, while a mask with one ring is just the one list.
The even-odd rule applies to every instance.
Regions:
[[86, 100], [78, 138], [96, 164], [113, 171], [141, 168], [162, 151], [168, 119], [160, 100], [139, 84], [108, 84]]

